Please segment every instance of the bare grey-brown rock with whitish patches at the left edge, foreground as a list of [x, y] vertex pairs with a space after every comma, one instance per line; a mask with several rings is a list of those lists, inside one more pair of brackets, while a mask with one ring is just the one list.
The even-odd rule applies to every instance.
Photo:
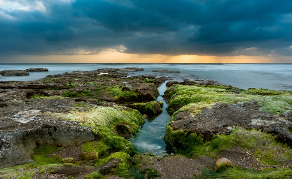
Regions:
[[33, 162], [30, 155], [40, 145], [72, 146], [94, 139], [79, 122], [60, 121], [38, 110], [11, 112], [0, 119], [0, 168]]

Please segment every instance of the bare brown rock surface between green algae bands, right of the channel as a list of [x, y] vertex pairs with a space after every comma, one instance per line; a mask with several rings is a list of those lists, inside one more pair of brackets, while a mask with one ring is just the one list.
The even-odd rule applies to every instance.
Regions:
[[277, 135], [277, 140], [292, 144], [292, 123], [266, 111], [260, 111], [256, 100], [243, 104], [216, 103], [211, 109], [206, 108], [201, 114], [178, 112], [169, 125], [173, 130], [191, 131], [202, 134], [204, 141], [209, 141], [215, 134], [229, 134], [230, 127], [245, 129], [258, 128], [266, 133]]

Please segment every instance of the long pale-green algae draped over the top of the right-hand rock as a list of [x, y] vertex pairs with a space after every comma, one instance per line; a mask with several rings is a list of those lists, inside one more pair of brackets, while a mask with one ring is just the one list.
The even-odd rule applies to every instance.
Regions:
[[215, 102], [234, 104], [257, 100], [259, 101], [259, 105], [263, 106], [260, 110], [268, 111], [277, 115], [292, 110], [292, 95], [288, 92], [283, 92], [283, 94], [280, 94], [280, 92], [279, 95], [263, 96], [252, 95], [246, 92], [233, 93], [222, 88], [203, 88], [195, 85], [173, 85], [166, 90], [165, 95], [170, 98], [167, 107], [167, 110], [170, 113], [173, 113], [180, 107], [190, 103], [204, 103], [204, 105], [210, 106]]

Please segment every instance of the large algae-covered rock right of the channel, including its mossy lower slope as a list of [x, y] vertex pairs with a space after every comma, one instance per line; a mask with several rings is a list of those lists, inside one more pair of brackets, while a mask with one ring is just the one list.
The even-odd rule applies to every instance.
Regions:
[[[291, 94], [214, 85], [172, 85], [164, 94], [169, 100], [168, 112], [174, 112], [164, 140], [187, 157], [215, 159], [224, 150], [239, 147], [251, 152], [263, 165], [285, 166], [292, 160]], [[281, 173], [280, 170], [275, 172]], [[287, 170], [283, 178], [286, 174]]]

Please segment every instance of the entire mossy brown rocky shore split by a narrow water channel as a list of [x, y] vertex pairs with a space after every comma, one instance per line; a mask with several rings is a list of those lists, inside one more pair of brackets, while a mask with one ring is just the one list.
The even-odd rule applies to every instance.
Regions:
[[[0, 81], [0, 178], [292, 177], [291, 91], [128, 77], [133, 71], [143, 69]], [[162, 112], [155, 100], [165, 81], [164, 140], [175, 154], [161, 158], [129, 139]]]

